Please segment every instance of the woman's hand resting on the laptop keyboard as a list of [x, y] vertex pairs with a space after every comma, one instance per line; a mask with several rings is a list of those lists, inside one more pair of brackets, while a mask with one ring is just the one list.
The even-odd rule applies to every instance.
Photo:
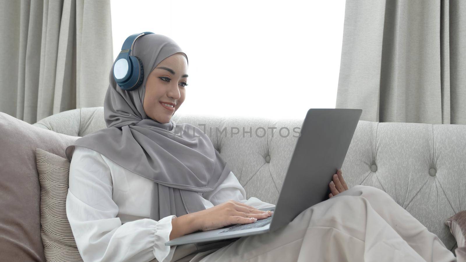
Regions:
[[271, 211], [262, 211], [238, 201], [229, 200], [219, 205], [191, 213], [197, 230], [207, 231], [232, 224], [248, 224], [267, 218]]

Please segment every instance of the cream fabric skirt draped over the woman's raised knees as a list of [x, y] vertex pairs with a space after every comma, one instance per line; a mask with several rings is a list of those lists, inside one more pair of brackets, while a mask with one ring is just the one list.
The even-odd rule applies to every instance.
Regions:
[[439, 237], [384, 191], [355, 186], [304, 210], [274, 232], [179, 245], [172, 262], [453, 262]]

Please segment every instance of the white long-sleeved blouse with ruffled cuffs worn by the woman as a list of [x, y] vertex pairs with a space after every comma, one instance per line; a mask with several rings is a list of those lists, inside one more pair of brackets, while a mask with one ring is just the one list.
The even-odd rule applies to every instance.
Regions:
[[[155, 185], [92, 149], [76, 146], [66, 213], [84, 262], [171, 260], [177, 246], [165, 246], [165, 242], [176, 215], [159, 221], [149, 218]], [[215, 190], [199, 193], [199, 198], [206, 208], [228, 200], [255, 208], [274, 207], [255, 197], [246, 200], [246, 191], [233, 172]]]

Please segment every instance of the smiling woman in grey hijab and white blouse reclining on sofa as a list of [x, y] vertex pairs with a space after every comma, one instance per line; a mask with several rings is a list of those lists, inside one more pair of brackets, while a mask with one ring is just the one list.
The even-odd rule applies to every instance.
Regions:
[[66, 150], [73, 156], [67, 216], [84, 261], [455, 261], [385, 192], [348, 189], [341, 170], [329, 184], [329, 200], [277, 231], [165, 246], [198, 230], [267, 218], [271, 213], [259, 208], [274, 205], [246, 199], [206, 134], [171, 120], [186, 96], [181, 48], [147, 34], [137, 38], [132, 55], [145, 69], [141, 86], [120, 88], [114, 63], [104, 101], [107, 128]]

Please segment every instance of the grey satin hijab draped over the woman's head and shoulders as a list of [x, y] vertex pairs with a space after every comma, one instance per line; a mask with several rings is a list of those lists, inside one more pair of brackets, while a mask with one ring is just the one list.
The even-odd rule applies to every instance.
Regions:
[[186, 56], [164, 35], [146, 34], [137, 38], [130, 55], [142, 60], [142, 85], [133, 91], [117, 86], [113, 79], [114, 61], [103, 104], [107, 128], [87, 134], [66, 148], [69, 161], [75, 146], [89, 148], [154, 181], [150, 218], [157, 221], [168, 215], [181, 216], [206, 209], [199, 192], [214, 190], [231, 172], [199, 128], [173, 120], [160, 123], [144, 112], [147, 77], [162, 60], [175, 53]]

